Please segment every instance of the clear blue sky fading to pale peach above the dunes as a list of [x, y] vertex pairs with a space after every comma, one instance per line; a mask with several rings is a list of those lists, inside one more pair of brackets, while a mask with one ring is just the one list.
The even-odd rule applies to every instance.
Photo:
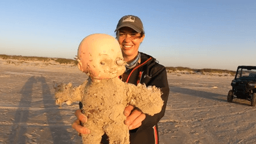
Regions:
[[0, 1], [0, 54], [73, 59], [85, 36], [137, 15], [139, 51], [166, 67], [256, 65], [256, 1]]

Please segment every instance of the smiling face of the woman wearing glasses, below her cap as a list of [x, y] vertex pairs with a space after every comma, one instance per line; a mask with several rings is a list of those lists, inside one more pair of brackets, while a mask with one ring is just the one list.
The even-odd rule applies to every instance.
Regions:
[[144, 37], [145, 35], [141, 36], [140, 33], [129, 27], [120, 28], [117, 31], [117, 40], [125, 61], [132, 61], [137, 56], [140, 43]]

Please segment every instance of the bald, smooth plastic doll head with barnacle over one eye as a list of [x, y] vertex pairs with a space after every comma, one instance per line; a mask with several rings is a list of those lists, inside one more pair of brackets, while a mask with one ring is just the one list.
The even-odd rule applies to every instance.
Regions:
[[77, 51], [78, 68], [93, 79], [111, 79], [125, 71], [118, 41], [110, 35], [86, 36]]

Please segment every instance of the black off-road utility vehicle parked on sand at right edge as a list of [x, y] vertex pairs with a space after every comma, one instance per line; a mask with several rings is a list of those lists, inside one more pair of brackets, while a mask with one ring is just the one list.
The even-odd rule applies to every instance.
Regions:
[[228, 92], [227, 100], [250, 100], [251, 106], [256, 104], [256, 66], [238, 66], [235, 79], [231, 83], [232, 90]]

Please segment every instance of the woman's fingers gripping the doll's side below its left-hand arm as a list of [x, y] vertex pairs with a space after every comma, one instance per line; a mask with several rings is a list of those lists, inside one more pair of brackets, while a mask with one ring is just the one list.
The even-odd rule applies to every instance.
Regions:
[[90, 130], [81, 125], [81, 122], [87, 122], [87, 117], [82, 113], [81, 109], [77, 109], [75, 115], [77, 120], [72, 124], [73, 129], [75, 129], [79, 135], [90, 134]]

